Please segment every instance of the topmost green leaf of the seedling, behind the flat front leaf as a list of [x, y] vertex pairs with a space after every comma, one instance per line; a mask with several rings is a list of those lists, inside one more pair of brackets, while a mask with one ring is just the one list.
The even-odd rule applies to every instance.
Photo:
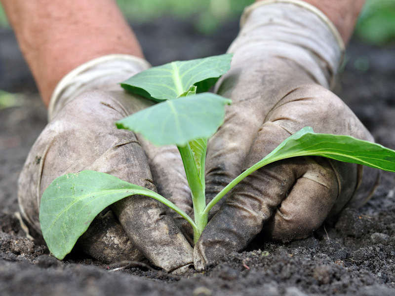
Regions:
[[181, 96], [197, 85], [198, 93], [208, 91], [231, 67], [232, 54], [190, 61], [175, 61], [140, 72], [120, 85], [135, 94], [161, 102]]

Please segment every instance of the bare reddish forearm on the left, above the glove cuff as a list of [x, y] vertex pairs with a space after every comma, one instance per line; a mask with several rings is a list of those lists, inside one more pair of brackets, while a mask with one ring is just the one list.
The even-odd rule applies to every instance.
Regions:
[[115, 0], [1, 3], [46, 105], [59, 80], [80, 64], [112, 53], [143, 56]]

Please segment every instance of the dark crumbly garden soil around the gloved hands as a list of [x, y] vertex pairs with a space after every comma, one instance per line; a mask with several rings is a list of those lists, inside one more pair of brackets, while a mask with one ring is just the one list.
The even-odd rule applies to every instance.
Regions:
[[[212, 36], [164, 18], [134, 26], [154, 65], [223, 53], [237, 22]], [[0, 31], [0, 89], [21, 95], [0, 110], [0, 295], [395, 295], [395, 175], [383, 172], [373, 198], [346, 209], [313, 236], [287, 244], [252, 243], [204, 273], [169, 275], [146, 265], [123, 269], [77, 256], [60, 261], [26, 238], [17, 215], [16, 184], [46, 111], [12, 32]], [[378, 143], [395, 149], [395, 50], [358, 44], [336, 92]], [[124, 266], [123, 266], [124, 267]]]

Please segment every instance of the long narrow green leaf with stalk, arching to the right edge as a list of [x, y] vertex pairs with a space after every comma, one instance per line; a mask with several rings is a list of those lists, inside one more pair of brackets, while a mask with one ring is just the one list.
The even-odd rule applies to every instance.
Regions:
[[395, 172], [395, 150], [380, 144], [356, 139], [351, 136], [316, 134], [311, 127], [304, 127], [285, 139], [265, 158], [245, 170], [235, 180], [223, 188], [206, 206], [210, 209], [242, 179], [277, 160], [297, 156], [323, 156]]

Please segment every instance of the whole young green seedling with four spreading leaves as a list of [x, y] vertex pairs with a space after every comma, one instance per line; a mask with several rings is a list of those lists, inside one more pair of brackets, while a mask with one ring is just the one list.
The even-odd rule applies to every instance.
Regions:
[[55, 257], [63, 259], [70, 253], [79, 236], [104, 208], [133, 194], [155, 198], [180, 214], [192, 225], [196, 243], [211, 208], [242, 179], [274, 161], [314, 155], [395, 171], [394, 150], [350, 136], [316, 134], [311, 127], [305, 127], [240, 174], [206, 204], [207, 139], [222, 124], [225, 107], [231, 101], [205, 91], [229, 70], [231, 58], [231, 55], [220, 55], [172, 62], [121, 83], [128, 91], [158, 104], [119, 120], [117, 127], [141, 133], [158, 146], [178, 147], [191, 188], [195, 220], [158, 193], [114, 176], [95, 171], [67, 174], [48, 186], [40, 204], [42, 234]]

